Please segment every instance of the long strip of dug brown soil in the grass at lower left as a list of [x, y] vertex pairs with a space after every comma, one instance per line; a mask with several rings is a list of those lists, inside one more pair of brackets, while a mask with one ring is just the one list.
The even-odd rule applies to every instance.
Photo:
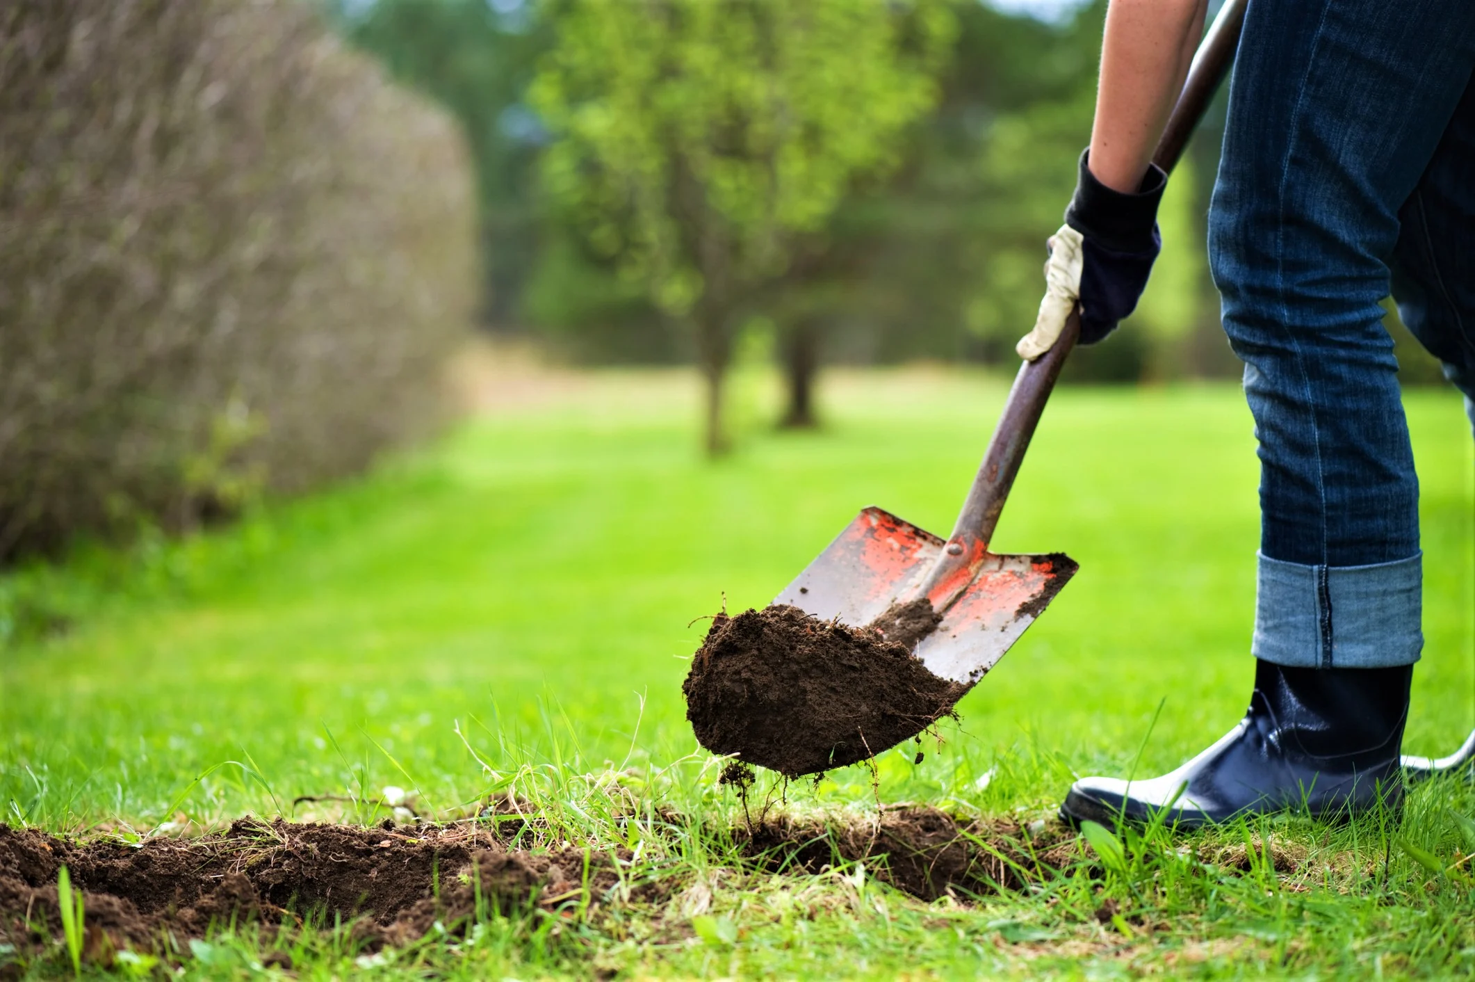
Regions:
[[236, 821], [202, 839], [86, 845], [0, 825], [0, 944], [32, 950], [62, 935], [56, 877], [65, 864], [83, 892], [88, 957], [205, 935], [211, 923], [295, 923], [324, 913], [370, 945], [404, 944], [484, 910], [590, 901], [620, 882], [614, 858], [583, 849], [507, 849], [475, 825], [363, 828]]

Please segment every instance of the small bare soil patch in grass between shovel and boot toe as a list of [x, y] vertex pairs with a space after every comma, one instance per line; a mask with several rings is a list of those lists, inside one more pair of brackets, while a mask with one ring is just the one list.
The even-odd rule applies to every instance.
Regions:
[[945, 893], [1018, 890], [1078, 858], [1075, 834], [1061, 823], [1032, 836], [1018, 823], [957, 820], [937, 808], [892, 805], [845, 823], [777, 818], [738, 828], [743, 852], [770, 870], [822, 873], [836, 862], [867, 864], [900, 890], [925, 901]]

